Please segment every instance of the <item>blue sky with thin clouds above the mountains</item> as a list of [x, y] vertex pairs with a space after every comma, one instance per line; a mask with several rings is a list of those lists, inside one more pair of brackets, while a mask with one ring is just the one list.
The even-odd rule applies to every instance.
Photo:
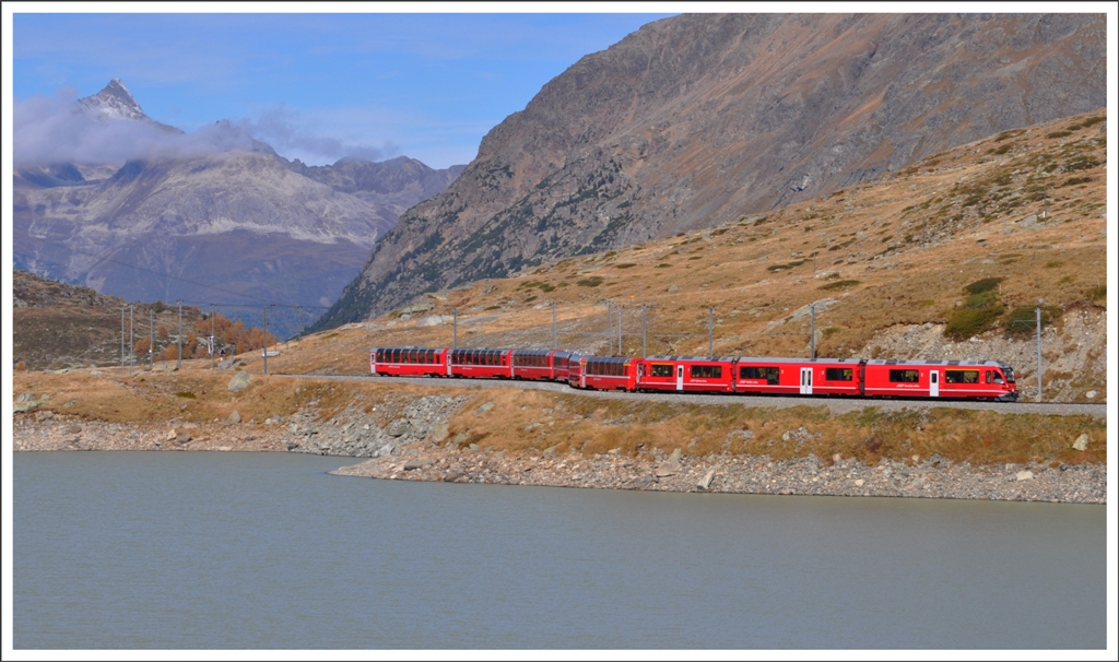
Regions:
[[81, 97], [121, 78], [187, 132], [238, 120], [309, 163], [446, 168], [581, 57], [666, 16], [15, 13], [12, 92]]

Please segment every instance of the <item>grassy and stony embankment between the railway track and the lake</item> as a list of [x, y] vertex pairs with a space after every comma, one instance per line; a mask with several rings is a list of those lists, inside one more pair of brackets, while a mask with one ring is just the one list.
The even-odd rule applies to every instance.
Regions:
[[1106, 502], [1106, 422], [1085, 416], [835, 416], [260, 375], [231, 391], [228, 372], [204, 370], [17, 381], [17, 451], [275, 451], [361, 457], [336, 473], [389, 480]]

